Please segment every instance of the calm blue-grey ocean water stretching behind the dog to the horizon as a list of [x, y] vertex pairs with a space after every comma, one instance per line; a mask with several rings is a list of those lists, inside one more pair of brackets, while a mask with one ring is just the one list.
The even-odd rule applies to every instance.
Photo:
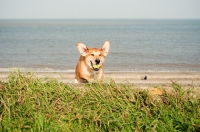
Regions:
[[0, 71], [74, 71], [106, 40], [106, 71], [200, 71], [200, 20], [167, 19], [0, 20]]

